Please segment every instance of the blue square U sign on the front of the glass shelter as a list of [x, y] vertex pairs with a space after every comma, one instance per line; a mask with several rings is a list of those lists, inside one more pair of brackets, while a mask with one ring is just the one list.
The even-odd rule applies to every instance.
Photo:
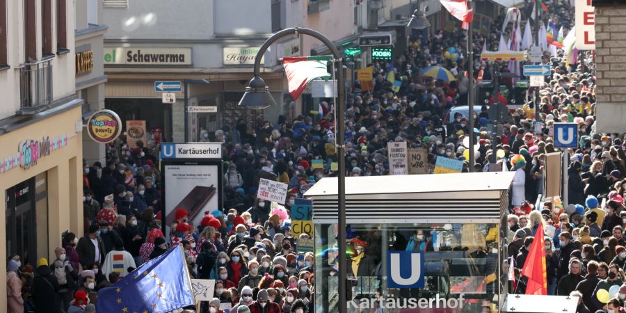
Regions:
[[388, 288], [424, 288], [424, 251], [387, 252]]

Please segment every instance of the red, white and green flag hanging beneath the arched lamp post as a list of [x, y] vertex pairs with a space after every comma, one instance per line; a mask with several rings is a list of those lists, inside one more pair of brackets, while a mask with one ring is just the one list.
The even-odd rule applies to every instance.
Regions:
[[331, 56], [282, 58], [282, 67], [289, 82], [289, 94], [296, 100], [313, 79], [330, 79], [327, 66]]

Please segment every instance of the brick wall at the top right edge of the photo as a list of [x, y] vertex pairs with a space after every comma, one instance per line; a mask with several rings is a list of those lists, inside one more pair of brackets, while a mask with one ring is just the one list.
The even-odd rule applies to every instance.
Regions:
[[626, 3], [595, 8], [597, 132], [624, 132], [626, 123]]

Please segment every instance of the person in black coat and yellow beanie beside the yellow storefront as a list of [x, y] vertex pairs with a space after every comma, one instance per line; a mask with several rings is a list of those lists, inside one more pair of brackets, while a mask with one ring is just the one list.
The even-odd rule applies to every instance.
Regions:
[[58, 282], [54, 277], [50, 267], [48, 266], [48, 260], [42, 257], [37, 262], [37, 269], [35, 270], [35, 278], [33, 279], [33, 285], [31, 287], [31, 296], [34, 300], [35, 313], [59, 313], [58, 305], [51, 305], [57, 303], [56, 291], [58, 290]]

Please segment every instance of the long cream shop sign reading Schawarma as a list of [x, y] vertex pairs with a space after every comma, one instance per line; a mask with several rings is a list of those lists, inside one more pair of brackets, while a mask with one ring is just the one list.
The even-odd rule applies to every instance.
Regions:
[[191, 65], [191, 48], [105, 47], [106, 65]]

